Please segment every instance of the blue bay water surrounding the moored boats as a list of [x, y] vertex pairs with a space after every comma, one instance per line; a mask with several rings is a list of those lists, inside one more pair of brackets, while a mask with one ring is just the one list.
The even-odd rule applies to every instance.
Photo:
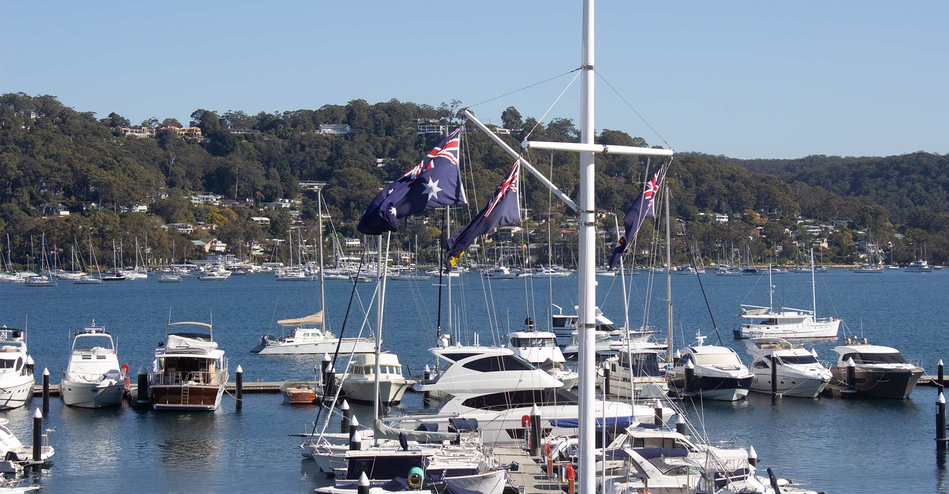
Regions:
[[[658, 325], [664, 338], [665, 277], [657, 276], [650, 291], [646, 274], [629, 277], [630, 318], [642, 323], [643, 307], [651, 301], [647, 322]], [[857, 274], [840, 269], [816, 275], [819, 317], [846, 320], [847, 334], [899, 348], [907, 358], [921, 359], [927, 374], [944, 351], [944, 324], [949, 320], [949, 272]], [[746, 356], [744, 342], [732, 338], [738, 303], [768, 305], [767, 276], [703, 275], [712, 315], [724, 344]], [[458, 282], [458, 280], [453, 280]], [[619, 278], [598, 278], [598, 301], [605, 315], [622, 323]], [[426, 349], [435, 341], [437, 287], [432, 282], [390, 282], [383, 323], [383, 346], [405, 357], [413, 371], [432, 363]], [[809, 274], [774, 276], [777, 305], [809, 309]], [[326, 282], [327, 316], [339, 333], [351, 295], [351, 284]], [[346, 335], [359, 332], [375, 284], [359, 284]], [[478, 333], [491, 343], [508, 328], [519, 329], [530, 315], [538, 329], [546, 328], [549, 301], [573, 313], [576, 280], [495, 280], [490, 285], [465, 275], [453, 287], [451, 314], [456, 332], [466, 342]], [[486, 302], [487, 293], [487, 302]], [[447, 298], [447, 297], [446, 297]], [[674, 276], [674, 337], [677, 345], [692, 343], [697, 330], [716, 343], [717, 336], [695, 276]], [[228, 353], [232, 373], [237, 365], [244, 380], [283, 381], [312, 378], [318, 356], [257, 356], [248, 353], [261, 335], [278, 333], [276, 320], [306, 316], [319, 310], [319, 284], [281, 283], [266, 274], [233, 276], [225, 282], [186, 278], [181, 284], [141, 281], [57, 287], [0, 285], [0, 323], [28, 327], [29, 352], [37, 374], [48, 368], [59, 380], [70, 337], [95, 319], [118, 338], [120, 361], [135, 374], [151, 365], [153, 352], [172, 321], [214, 321], [214, 339]], [[442, 305], [443, 326], [449, 310]], [[556, 312], [557, 309], [554, 308]], [[460, 320], [460, 323], [457, 321]], [[369, 313], [372, 331], [374, 312]], [[843, 335], [843, 330], [842, 330]], [[840, 340], [806, 341], [821, 359], [833, 360]], [[233, 374], [232, 374], [233, 375]], [[809, 480], [828, 492], [946, 492], [945, 458], [935, 452], [933, 388], [918, 388], [907, 400], [846, 401], [784, 398], [772, 403], [752, 394], [736, 403], [705, 402], [690, 409], [690, 418], [704, 424], [713, 439], [740, 438], [753, 445], [762, 466], [777, 466], [785, 476]], [[419, 396], [407, 394], [417, 403]], [[33, 404], [0, 416], [25, 442], [30, 441]], [[360, 418], [369, 409], [355, 407]], [[46, 427], [56, 427], [57, 448], [51, 465], [37, 481], [44, 492], [311, 492], [326, 485], [326, 477], [296, 450], [303, 431], [316, 417], [313, 408], [281, 404], [278, 394], [245, 394], [244, 409], [234, 411], [233, 398], [211, 413], [142, 412], [127, 406], [111, 410], [69, 409], [51, 401]], [[363, 420], [366, 422], [366, 420]]]

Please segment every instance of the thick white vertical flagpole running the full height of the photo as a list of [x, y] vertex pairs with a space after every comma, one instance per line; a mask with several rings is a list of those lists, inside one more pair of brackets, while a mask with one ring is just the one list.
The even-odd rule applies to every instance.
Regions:
[[[584, 0], [583, 43], [581, 56], [581, 105], [580, 142], [594, 144], [594, 36], [593, 0]], [[580, 263], [578, 267], [578, 326], [580, 329], [580, 494], [596, 491], [596, 417], [594, 373], [596, 342], [596, 206], [594, 184], [596, 183], [593, 153], [580, 153]]]

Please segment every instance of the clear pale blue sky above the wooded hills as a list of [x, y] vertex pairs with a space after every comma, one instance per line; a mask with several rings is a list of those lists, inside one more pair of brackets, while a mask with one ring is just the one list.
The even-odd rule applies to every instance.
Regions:
[[[580, 64], [581, 2], [0, 0], [0, 92], [137, 123], [197, 108], [466, 105]], [[677, 151], [949, 152], [947, 2], [596, 4], [596, 68]], [[474, 107], [540, 118], [572, 78]], [[579, 80], [549, 113], [579, 122]], [[597, 81], [598, 129], [660, 137]]]

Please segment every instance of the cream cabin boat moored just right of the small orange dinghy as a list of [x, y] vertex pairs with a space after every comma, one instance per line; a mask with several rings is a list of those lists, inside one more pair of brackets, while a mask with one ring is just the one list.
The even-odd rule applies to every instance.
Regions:
[[[362, 354], [349, 365], [349, 372], [338, 376], [346, 398], [372, 403], [376, 387], [376, 355]], [[399, 357], [388, 352], [379, 355], [379, 398], [389, 405], [399, 403], [405, 390], [416, 381], [402, 375]]]

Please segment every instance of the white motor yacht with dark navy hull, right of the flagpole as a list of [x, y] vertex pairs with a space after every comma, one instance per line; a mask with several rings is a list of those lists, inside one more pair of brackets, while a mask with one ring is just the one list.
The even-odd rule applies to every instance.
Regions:
[[736, 401], [748, 395], [754, 375], [741, 363], [735, 350], [723, 346], [702, 345], [698, 336], [694, 346], [679, 350], [681, 357], [675, 367], [666, 372], [669, 387], [678, 393], [686, 392], [685, 366], [694, 366], [692, 393], [708, 399]]

